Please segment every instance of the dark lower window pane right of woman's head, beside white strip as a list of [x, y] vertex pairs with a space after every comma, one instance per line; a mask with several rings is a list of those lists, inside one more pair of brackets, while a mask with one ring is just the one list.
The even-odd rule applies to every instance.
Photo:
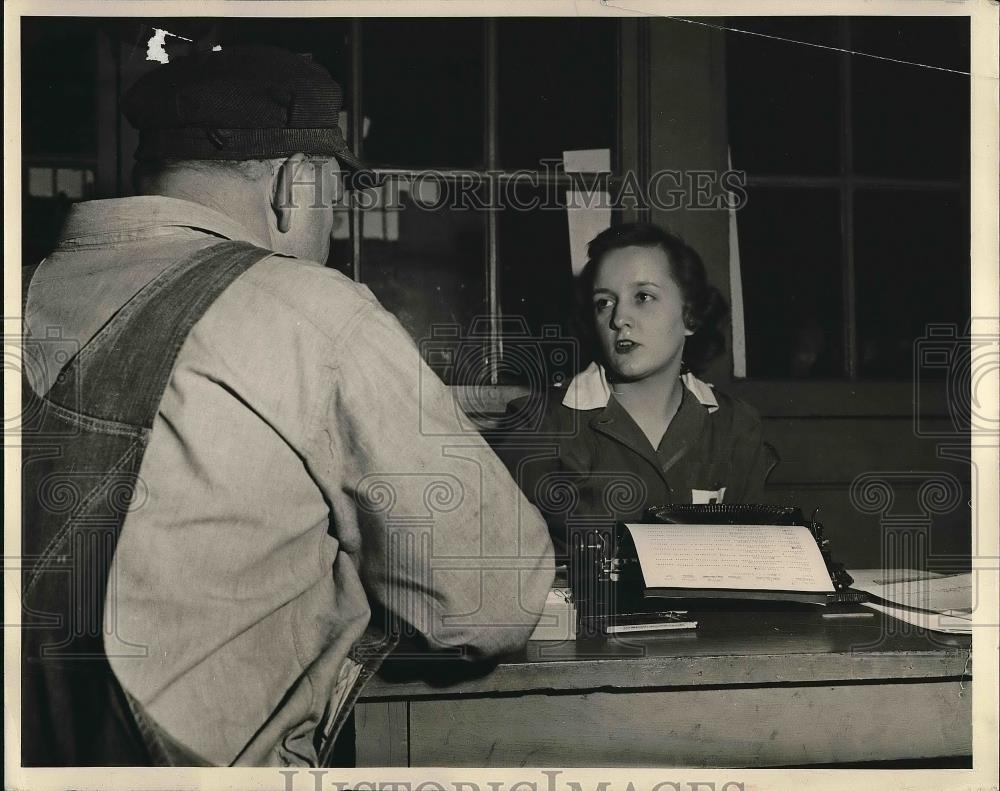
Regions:
[[749, 376], [842, 377], [838, 193], [747, 192], [738, 232]]

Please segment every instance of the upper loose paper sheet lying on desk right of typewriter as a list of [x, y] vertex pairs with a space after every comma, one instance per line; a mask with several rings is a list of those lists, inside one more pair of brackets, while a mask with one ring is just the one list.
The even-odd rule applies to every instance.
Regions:
[[852, 571], [856, 590], [901, 607], [948, 615], [972, 616], [972, 574], [938, 575], [899, 569]]

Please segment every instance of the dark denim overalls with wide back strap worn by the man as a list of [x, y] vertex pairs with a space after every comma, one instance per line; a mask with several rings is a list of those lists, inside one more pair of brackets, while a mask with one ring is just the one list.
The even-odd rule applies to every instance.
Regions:
[[115, 314], [48, 393], [22, 384], [25, 766], [167, 762], [108, 661], [146, 655], [117, 635], [106, 612], [111, 562], [143, 497], [139, 468], [181, 346], [218, 296], [271, 255], [227, 241], [178, 261]]

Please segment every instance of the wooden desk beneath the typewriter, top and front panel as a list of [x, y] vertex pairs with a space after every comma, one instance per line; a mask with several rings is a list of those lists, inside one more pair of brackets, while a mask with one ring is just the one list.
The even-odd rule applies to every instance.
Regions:
[[[529, 643], [448, 686], [373, 680], [359, 766], [796, 766], [972, 753], [971, 639], [874, 614], [714, 613]], [[894, 629], [896, 631], [889, 631]]]

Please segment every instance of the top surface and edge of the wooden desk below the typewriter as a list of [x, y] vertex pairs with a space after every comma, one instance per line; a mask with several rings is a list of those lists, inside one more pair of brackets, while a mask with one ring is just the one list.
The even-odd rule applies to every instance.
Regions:
[[[532, 642], [487, 675], [437, 658], [396, 660], [362, 700], [529, 691], [945, 680], [971, 673], [971, 637], [921, 632], [879, 613], [701, 613], [696, 631]], [[429, 679], [429, 680], [428, 680]]]

